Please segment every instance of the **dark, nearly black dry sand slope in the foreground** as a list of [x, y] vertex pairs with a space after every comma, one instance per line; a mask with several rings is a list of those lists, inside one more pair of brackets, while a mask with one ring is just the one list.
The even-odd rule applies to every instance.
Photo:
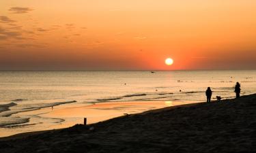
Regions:
[[256, 95], [0, 139], [0, 152], [256, 152]]

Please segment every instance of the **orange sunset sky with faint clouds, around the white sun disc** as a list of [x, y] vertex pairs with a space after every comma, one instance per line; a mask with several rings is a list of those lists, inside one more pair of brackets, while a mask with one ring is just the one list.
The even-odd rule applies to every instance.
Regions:
[[1, 0], [0, 69], [256, 69], [256, 1]]

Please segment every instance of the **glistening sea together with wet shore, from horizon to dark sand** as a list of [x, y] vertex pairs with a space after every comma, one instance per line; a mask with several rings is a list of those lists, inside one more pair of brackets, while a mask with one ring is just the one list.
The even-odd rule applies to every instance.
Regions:
[[[245, 75], [246, 74], [246, 75]], [[104, 76], [104, 77], [102, 77]], [[0, 71], [0, 137], [256, 93], [255, 70]]]

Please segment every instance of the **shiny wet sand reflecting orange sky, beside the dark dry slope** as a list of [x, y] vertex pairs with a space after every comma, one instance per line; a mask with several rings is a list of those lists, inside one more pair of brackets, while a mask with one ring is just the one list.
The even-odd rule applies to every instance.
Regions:
[[[63, 129], [75, 124], [87, 124], [108, 120], [124, 114], [137, 114], [147, 110], [162, 107], [193, 103], [191, 101], [122, 101], [104, 103], [67, 103], [52, 107], [45, 107], [29, 112], [12, 114], [13, 118], [29, 118], [23, 124], [12, 124], [0, 128], [0, 137], [7, 137], [18, 133]], [[15, 120], [14, 120], [15, 121]], [[15, 121], [16, 122], [16, 121]]]

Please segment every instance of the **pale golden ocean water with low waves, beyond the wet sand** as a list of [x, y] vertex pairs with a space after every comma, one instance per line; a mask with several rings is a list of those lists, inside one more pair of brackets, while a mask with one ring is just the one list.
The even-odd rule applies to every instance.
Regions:
[[[0, 128], [25, 124], [18, 116], [68, 103], [93, 105], [115, 101], [205, 101], [256, 92], [256, 71], [0, 71]], [[61, 119], [59, 119], [61, 122]]]

